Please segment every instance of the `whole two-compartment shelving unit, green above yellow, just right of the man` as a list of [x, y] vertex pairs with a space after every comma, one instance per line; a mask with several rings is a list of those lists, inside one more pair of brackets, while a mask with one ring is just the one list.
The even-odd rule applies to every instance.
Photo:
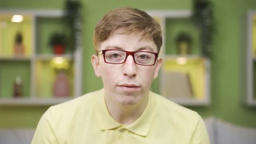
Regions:
[[[211, 62], [201, 56], [200, 31], [193, 25], [192, 11], [149, 10], [148, 13], [160, 23], [164, 31], [159, 54], [162, 58], [160, 94], [180, 105], [209, 105]], [[189, 55], [178, 55], [176, 40], [182, 33], [191, 38], [187, 52]]]

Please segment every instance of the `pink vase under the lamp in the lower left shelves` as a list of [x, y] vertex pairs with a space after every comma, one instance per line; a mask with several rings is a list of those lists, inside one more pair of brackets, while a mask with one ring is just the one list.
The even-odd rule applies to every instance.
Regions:
[[65, 72], [59, 72], [53, 85], [53, 93], [55, 97], [68, 97], [70, 96], [70, 84]]

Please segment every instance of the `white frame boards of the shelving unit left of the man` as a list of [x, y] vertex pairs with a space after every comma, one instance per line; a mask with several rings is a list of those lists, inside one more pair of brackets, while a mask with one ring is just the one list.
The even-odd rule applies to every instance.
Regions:
[[[0, 53], [0, 62], [1, 61], [26, 61], [30, 63], [30, 97], [24, 97], [24, 98], [13, 98], [12, 95], [2, 95], [7, 97], [0, 97], [0, 105], [55, 105], [62, 103], [64, 101], [79, 97], [82, 94], [82, 47], [76, 47], [74, 53], [68, 53], [65, 55], [54, 55], [54, 54], [40, 54], [37, 53], [37, 25], [38, 25], [38, 18], [60, 18], [63, 16], [64, 11], [63, 10], [14, 10], [14, 9], [1, 9], [0, 15], [27, 15], [30, 16], [32, 21], [32, 30], [31, 30], [31, 55], [29, 57], [16, 57], [16, 56], [3, 56]], [[42, 24], [42, 23], [40, 23]], [[46, 48], [45, 48], [46, 49]], [[1, 51], [0, 51], [1, 52]], [[74, 65], [74, 77], [73, 80], [73, 95], [72, 97], [68, 98], [39, 98], [37, 95], [37, 79], [36, 79], [36, 64], [37, 61], [50, 61], [54, 57], [64, 57], [68, 60], [73, 61]], [[1, 81], [1, 80], [0, 80]], [[1, 91], [1, 88], [0, 88]], [[0, 95], [1, 96], [1, 95]], [[26, 96], [26, 95], [24, 95]]]

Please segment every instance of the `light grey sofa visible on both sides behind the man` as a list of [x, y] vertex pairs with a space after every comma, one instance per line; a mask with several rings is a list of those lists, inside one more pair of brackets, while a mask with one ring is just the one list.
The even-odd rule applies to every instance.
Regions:
[[[256, 144], [256, 129], [210, 117], [204, 119], [211, 144]], [[1, 144], [31, 143], [34, 129], [0, 129]]]

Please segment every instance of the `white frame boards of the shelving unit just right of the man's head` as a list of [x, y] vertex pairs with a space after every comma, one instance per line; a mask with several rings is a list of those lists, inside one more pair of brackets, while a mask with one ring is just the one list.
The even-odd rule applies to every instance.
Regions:
[[[167, 19], [188, 19], [189, 17], [191, 17], [192, 13], [190, 10], [146, 10], [147, 13], [153, 17], [155, 17], [156, 20], [159, 21], [162, 31], [163, 31], [163, 35], [162, 35], [162, 47], [160, 50], [160, 57], [163, 60], [163, 64], [166, 61], [174, 61], [175, 59], [181, 57], [181, 56], [177, 56], [177, 55], [171, 55], [171, 54], [167, 54], [166, 53], [166, 32], [168, 31], [168, 29], [166, 29], [166, 21]], [[185, 105], [185, 106], [200, 106], [200, 105], [209, 105], [211, 103], [211, 95], [210, 95], [210, 66], [211, 66], [211, 62], [210, 59], [208, 58], [203, 58], [200, 56], [185, 56], [184, 58], [186, 58], [188, 61], [193, 61], [194, 59], [203, 59], [203, 65], [204, 65], [204, 70], [205, 70], [205, 74], [202, 75], [202, 79], [204, 82], [203, 88], [201, 89], [203, 91], [203, 98], [198, 99], [193, 95], [193, 98], [180, 98], [180, 97], [176, 97], [176, 98], [170, 98], [168, 97], [168, 95], [165, 95], [165, 89], [164, 87], [166, 87], [166, 81], [167, 81], [167, 77], [165, 75], [165, 71], [164, 71], [164, 65], [162, 65], [162, 68], [160, 70], [160, 94], [163, 95], [164, 97], [167, 97], [168, 99], [170, 99], [171, 101], [174, 101], [175, 103], [181, 104], [181, 105]]]

